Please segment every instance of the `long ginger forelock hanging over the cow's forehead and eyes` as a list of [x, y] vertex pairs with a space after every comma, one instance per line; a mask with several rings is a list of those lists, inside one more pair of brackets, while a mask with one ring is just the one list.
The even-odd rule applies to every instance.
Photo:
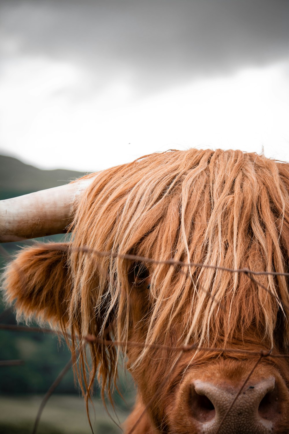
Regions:
[[[288, 190], [288, 164], [263, 155], [220, 149], [152, 154], [95, 179], [75, 212], [72, 236], [76, 245], [94, 250], [283, 273], [288, 271]], [[101, 334], [114, 321], [117, 338], [127, 339], [127, 264], [123, 257], [91, 260], [71, 253], [71, 321], [81, 309], [84, 332]], [[259, 285], [244, 273], [214, 268], [180, 270], [157, 263], [149, 268], [147, 343], [159, 336], [171, 341], [172, 329], [180, 344], [214, 345], [220, 335], [226, 343], [236, 331], [273, 343], [278, 312], [284, 309], [287, 316], [284, 276], [258, 276]], [[97, 330], [92, 330], [95, 318]], [[282, 339], [288, 345], [287, 321]]]

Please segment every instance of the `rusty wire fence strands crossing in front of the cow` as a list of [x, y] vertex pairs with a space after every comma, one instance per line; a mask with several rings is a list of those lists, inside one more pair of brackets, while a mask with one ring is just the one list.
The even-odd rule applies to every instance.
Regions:
[[[19, 241], [23, 241], [23, 239], [19, 239]], [[226, 268], [226, 267], [222, 267], [222, 266], [214, 266], [211, 264], [204, 264], [204, 263], [194, 263], [194, 262], [186, 263], [186, 262], [182, 262], [182, 261], [175, 261], [173, 259], [170, 259], [170, 260], [153, 260], [150, 258], [146, 258], [144, 256], [138, 256], [138, 255], [133, 255], [133, 254], [121, 254], [121, 253], [113, 253], [113, 252], [107, 252], [107, 251], [98, 251], [98, 250], [90, 249], [86, 246], [71, 247], [71, 245], [67, 245], [65, 243], [52, 243], [50, 245], [48, 244], [46, 246], [46, 248], [47, 248], [47, 250], [58, 250], [58, 251], [76, 250], [76, 251], [80, 251], [83, 253], [88, 253], [89, 255], [93, 255], [93, 256], [94, 255], [96, 255], [96, 256], [110, 256], [110, 257], [118, 257], [121, 259], [131, 260], [131, 261], [140, 261], [140, 262], [145, 262], [145, 263], [178, 266], [180, 268], [180, 270], [182, 267], [203, 267], [203, 268], [210, 268], [210, 269], [220, 270], [220, 271], [229, 272], [229, 273], [244, 273], [248, 277], [248, 279], [250, 279], [257, 286], [259, 286], [260, 288], [262, 288], [266, 292], [268, 292], [271, 296], [273, 296], [276, 299], [276, 301], [279, 303], [280, 306], [285, 307], [289, 311], [289, 306], [287, 306], [286, 303], [284, 303], [284, 302], [281, 303], [278, 296], [273, 294], [269, 288], [266, 288], [266, 286], [264, 286], [262, 283], [260, 283], [254, 277], [254, 276], [264, 276], [264, 275], [289, 277], [289, 273], [279, 273], [279, 272], [273, 272], [273, 271], [253, 271], [253, 270], [249, 270], [247, 268], [230, 269], [230, 268]], [[2, 253], [4, 256], [6, 256], [6, 258], [9, 259], [10, 255], [9, 255], [9, 253], [6, 252], [6, 250], [3, 248], [3, 246], [0, 246], [0, 253]], [[21, 274], [21, 270], [18, 270], [18, 267], [17, 267], [16, 271]], [[25, 282], [23, 282], [23, 285], [25, 287]], [[200, 289], [204, 290], [201, 287], [200, 287]], [[206, 293], [208, 296], [211, 296], [209, 291], [206, 291]], [[223, 306], [221, 306], [221, 308], [223, 308]], [[2, 315], [0, 316], [0, 319], [1, 320], [4, 319], [6, 317], [6, 315], [8, 315], [9, 313], [10, 313], [10, 309], [7, 309], [6, 311], [4, 311], [2, 313]], [[0, 324], [0, 329], [10, 330], [10, 331], [23, 331], [23, 332], [40, 332], [41, 331], [41, 332], [52, 333], [52, 334], [58, 333], [58, 332], [55, 332], [54, 330], [51, 330], [51, 329], [42, 329], [39, 327], [28, 327], [28, 326], [10, 325], [10, 324]], [[257, 362], [253, 365], [253, 368], [251, 369], [249, 375], [247, 375], [247, 378], [244, 380], [243, 384], [240, 386], [236, 396], [234, 397], [229, 408], [227, 409], [226, 413], [224, 414], [215, 434], [219, 433], [221, 426], [222, 426], [222, 423], [224, 422], [225, 418], [227, 417], [227, 414], [229, 414], [229, 412], [231, 411], [238, 396], [240, 395], [240, 393], [244, 389], [245, 385], [249, 381], [250, 377], [252, 376], [252, 374], [255, 371], [255, 369], [257, 368], [257, 366], [260, 364], [261, 360], [263, 358], [267, 358], [267, 357], [289, 358], [289, 354], [273, 354], [272, 353], [273, 349], [270, 349], [269, 351], [268, 350], [249, 351], [249, 350], [245, 350], [245, 349], [213, 348], [213, 347], [199, 346], [197, 342], [193, 343], [192, 345], [166, 346], [166, 345], [162, 345], [162, 344], [145, 344], [145, 343], [131, 342], [131, 341], [128, 341], [128, 342], [122, 342], [122, 341], [116, 341], [116, 340], [113, 341], [113, 340], [107, 340], [107, 339], [100, 339], [100, 338], [97, 338], [96, 336], [93, 336], [93, 335], [86, 335], [83, 337], [79, 337], [79, 339], [83, 340], [84, 342], [97, 342], [99, 344], [106, 345], [106, 346], [114, 345], [114, 346], [122, 346], [122, 347], [125, 347], [125, 346], [127, 346], [127, 347], [141, 347], [141, 348], [147, 347], [147, 348], [153, 348], [153, 349], [162, 349], [162, 350], [171, 351], [171, 352], [179, 351], [179, 355], [177, 356], [174, 363], [172, 364], [171, 369], [169, 370], [169, 372], [167, 373], [165, 378], [162, 380], [162, 382], [159, 385], [159, 387], [157, 388], [155, 394], [149, 400], [149, 402], [146, 404], [146, 406], [145, 406], [143, 412], [140, 414], [138, 420], [135, 422], [135, 424], [133, 425], [133, 427], [130, 429], [130, 431], [127, 434], [133, 434], [136, 426], [139, 424], [143, 415], [153, 405], [156, 397], [159, 395], [159, 392], [166, 385], [167, 381], [169, 380], [169, 377], [172, 375], [172, 373], [175, 369], [175, 366], [179, 362], [179, 360], [180, 360], [180, 358], [184, 352], [189, 352], [189, 351], [193, 351], [195, 349], [198, 349], [198, 350], [204, 350], [206, 352], [219, 352], [219, 353], [223, 353], [223, 354], [224, 353], [238, 353], [238, 354], [242, 353], [244, 355], [250, 355], [252, 357], [258, 357]], [[22, 364], [23, 364], [23, 361], [21, 361], [21, 360], [0, 361], [0, 366], [1, 365], [2, 366], [5, 366], [5, 365], [22, 365]], [[47, 403], [49, 397], [55, 391], [55, 388], [58, 386], [58, 384], [60, 383], [62, 378], [65, 376], [66, 372], [68, 372], [68, 370], [71, 366], [72, 366], [72, 359], [65, 365], [65, 367], [62, 369], [62, 371], [60, 372], [58, 377], [55, 379], [55, 381], [50, 386], [49, 390], [46, 392], [46, 394], [45, 394], [45, 396], [42, 399], [42, 402], [40, 404], [32, 434], [36, 434], [36, 432], [37, 432], [37, 427], [38, 427], [38, 424], [40, 421], [42, 411], [43, 411], [45, 404]]]

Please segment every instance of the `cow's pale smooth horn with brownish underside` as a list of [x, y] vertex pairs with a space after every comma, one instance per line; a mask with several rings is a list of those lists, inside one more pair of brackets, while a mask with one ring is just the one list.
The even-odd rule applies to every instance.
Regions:
[[0, 242], [67, 232], [75, 201], [93, 179], [0, 201]]

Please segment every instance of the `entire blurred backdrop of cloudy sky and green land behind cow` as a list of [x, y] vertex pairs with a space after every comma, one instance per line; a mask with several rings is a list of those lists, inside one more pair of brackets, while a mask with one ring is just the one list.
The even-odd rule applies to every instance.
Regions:
[[[288, 0], [0, 0], [0, 198], [170, 148], [289, 161], [288, 23]], [[20, 244], [3, 246], [1, 265]], [[30, 433], [69, 353], [43, 333], [0, 339], [1, 360], [25, 362], [0, 367], [0, 434]], [[134, 396], [120, 372], [116, 421]], [[95, 432], [121, 432], [98, 397]], [[71, 372], [38, 432], [90, 432]]]

